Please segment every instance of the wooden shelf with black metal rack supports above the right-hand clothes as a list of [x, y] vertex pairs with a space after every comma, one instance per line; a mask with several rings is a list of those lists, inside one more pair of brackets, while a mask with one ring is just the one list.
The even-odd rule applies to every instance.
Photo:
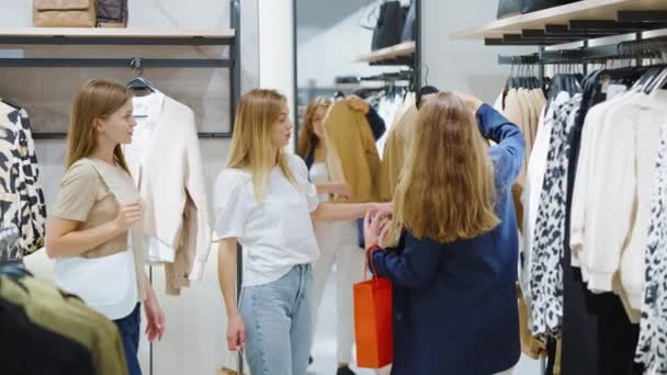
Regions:
[[[496, 20], [455, 33], [455, 39], [479, 39], [485, 46], [535, 46], [534, 54], [504, 56], [499, 65], [581, 65], [610, 60], [664, 59], [667, 52], [667, 2], [587, 0]], [[635, 60], [636, 59], [636, 60]], [[544, 360], [541, 362], [545, 371]]]

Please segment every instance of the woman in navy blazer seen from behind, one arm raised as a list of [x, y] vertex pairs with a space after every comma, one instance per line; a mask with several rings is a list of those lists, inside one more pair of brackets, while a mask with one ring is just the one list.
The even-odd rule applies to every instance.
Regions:
[[520, 356], [511, 186], [525, 143], [517, 125], [479, 104], [444, 92], [429, 99], [393, 219], [366, 215], [366, 243], [399, 238], [369, 252], [394, 285], [395, 375], [491, 375]]

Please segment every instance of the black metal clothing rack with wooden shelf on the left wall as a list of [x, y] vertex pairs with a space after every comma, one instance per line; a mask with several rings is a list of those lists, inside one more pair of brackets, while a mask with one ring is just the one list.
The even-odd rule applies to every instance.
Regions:
[[[240, 0], [230, 0], [230, 31], [155, 31], [105, 29], [0, 29], [0, 45], [91, 46], [228, 46], [227, 58], [0, 58], [13, 68], [124, 68], [140, 61], [148, 68], [227, 68], [229, 70], [229, 132], [197, 133], [200, 138], [230, 138], [240, 98]], [[61, 139], [67, 133], [33, 133], [35, 139]]]

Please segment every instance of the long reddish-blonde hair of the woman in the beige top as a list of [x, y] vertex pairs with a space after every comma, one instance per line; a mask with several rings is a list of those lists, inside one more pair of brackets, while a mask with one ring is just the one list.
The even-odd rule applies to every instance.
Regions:
[[[95, 122], [105, 120], [132, 100], [129, 89], [104, 79], [88, 80], [77, 92], [71, 104], [71, 120], [67, 135], [67, 168], [92, 155], [98, 147]], [[121, 145], [113, 149], [113, 161], [127, 173], [127, 162]]]

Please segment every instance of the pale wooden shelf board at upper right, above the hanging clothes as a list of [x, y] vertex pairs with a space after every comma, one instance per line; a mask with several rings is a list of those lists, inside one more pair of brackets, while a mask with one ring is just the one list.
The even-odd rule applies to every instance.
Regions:
[[464, 30], [452, 39], [482, 39], [521, 33], [522, 30], [544, 30], [549, 24], [567, 24], [573, 20], [615, 20], [619, 11], [667, 10], [666, 0], [583, 0], [567, 5], [520, 14], [490, 22], [482, 27]]

